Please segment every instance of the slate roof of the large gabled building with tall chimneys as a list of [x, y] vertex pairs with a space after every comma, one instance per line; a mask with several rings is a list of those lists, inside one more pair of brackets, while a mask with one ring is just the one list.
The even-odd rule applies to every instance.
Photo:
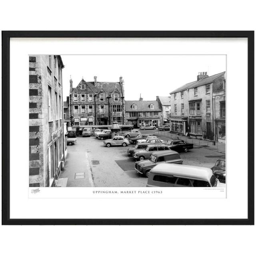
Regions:
[[[110, 96], [110, 94], [112, 94], [115, 90], [118, 90], [118, 92], [124, 96], [124, 92], [122, 91], [120, 82], [98, 82], [97, 81], [97, 86], [94, 86], [94, 82], [86, 82], [84, 79], [82, 79], [77, 86], [81, 84], [86, 84], [94, 94], [97, 94], [101, 90], [103, 90], [106, 94], [108, 94], [108, 96]], [[72, 88], [72, 92], [75, 89], [76, 88]]]

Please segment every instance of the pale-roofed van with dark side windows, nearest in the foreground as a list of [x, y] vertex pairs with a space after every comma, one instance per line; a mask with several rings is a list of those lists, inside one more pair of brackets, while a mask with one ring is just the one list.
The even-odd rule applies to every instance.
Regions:
[[149, 172], [147, 187], [216, 187], [218, 179], [210, 168], [157, 164]]

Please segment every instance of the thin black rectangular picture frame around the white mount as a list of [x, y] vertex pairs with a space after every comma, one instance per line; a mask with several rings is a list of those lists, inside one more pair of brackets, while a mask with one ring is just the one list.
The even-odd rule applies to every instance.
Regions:
[[[246, 219], [10, 219], [10, 38], [247, 38], [248, 218]], [[250, 89], [250, 90], [249, 90]], [[250, 138], [250, 139], [249, 139]], [[254, 31], [2, 31], [3, 225], [253, 225]]]

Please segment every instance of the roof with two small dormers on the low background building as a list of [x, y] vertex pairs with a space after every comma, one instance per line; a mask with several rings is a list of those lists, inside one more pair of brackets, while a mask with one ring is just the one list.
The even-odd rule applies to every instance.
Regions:
[[[136, 109], [132, 108], [133, 104], [137, 106]], [[154, 105], [154, 109], [150, 108], [150, 104]], [[158, 100], [126, 100], [125, 111], [162, 111], [162, 107]]]

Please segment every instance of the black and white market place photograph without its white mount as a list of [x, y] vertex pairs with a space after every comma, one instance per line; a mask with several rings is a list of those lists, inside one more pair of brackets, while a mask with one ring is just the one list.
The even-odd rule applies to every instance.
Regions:
[[29, 187], [225, 187], [226, 55], [30, 54]]

